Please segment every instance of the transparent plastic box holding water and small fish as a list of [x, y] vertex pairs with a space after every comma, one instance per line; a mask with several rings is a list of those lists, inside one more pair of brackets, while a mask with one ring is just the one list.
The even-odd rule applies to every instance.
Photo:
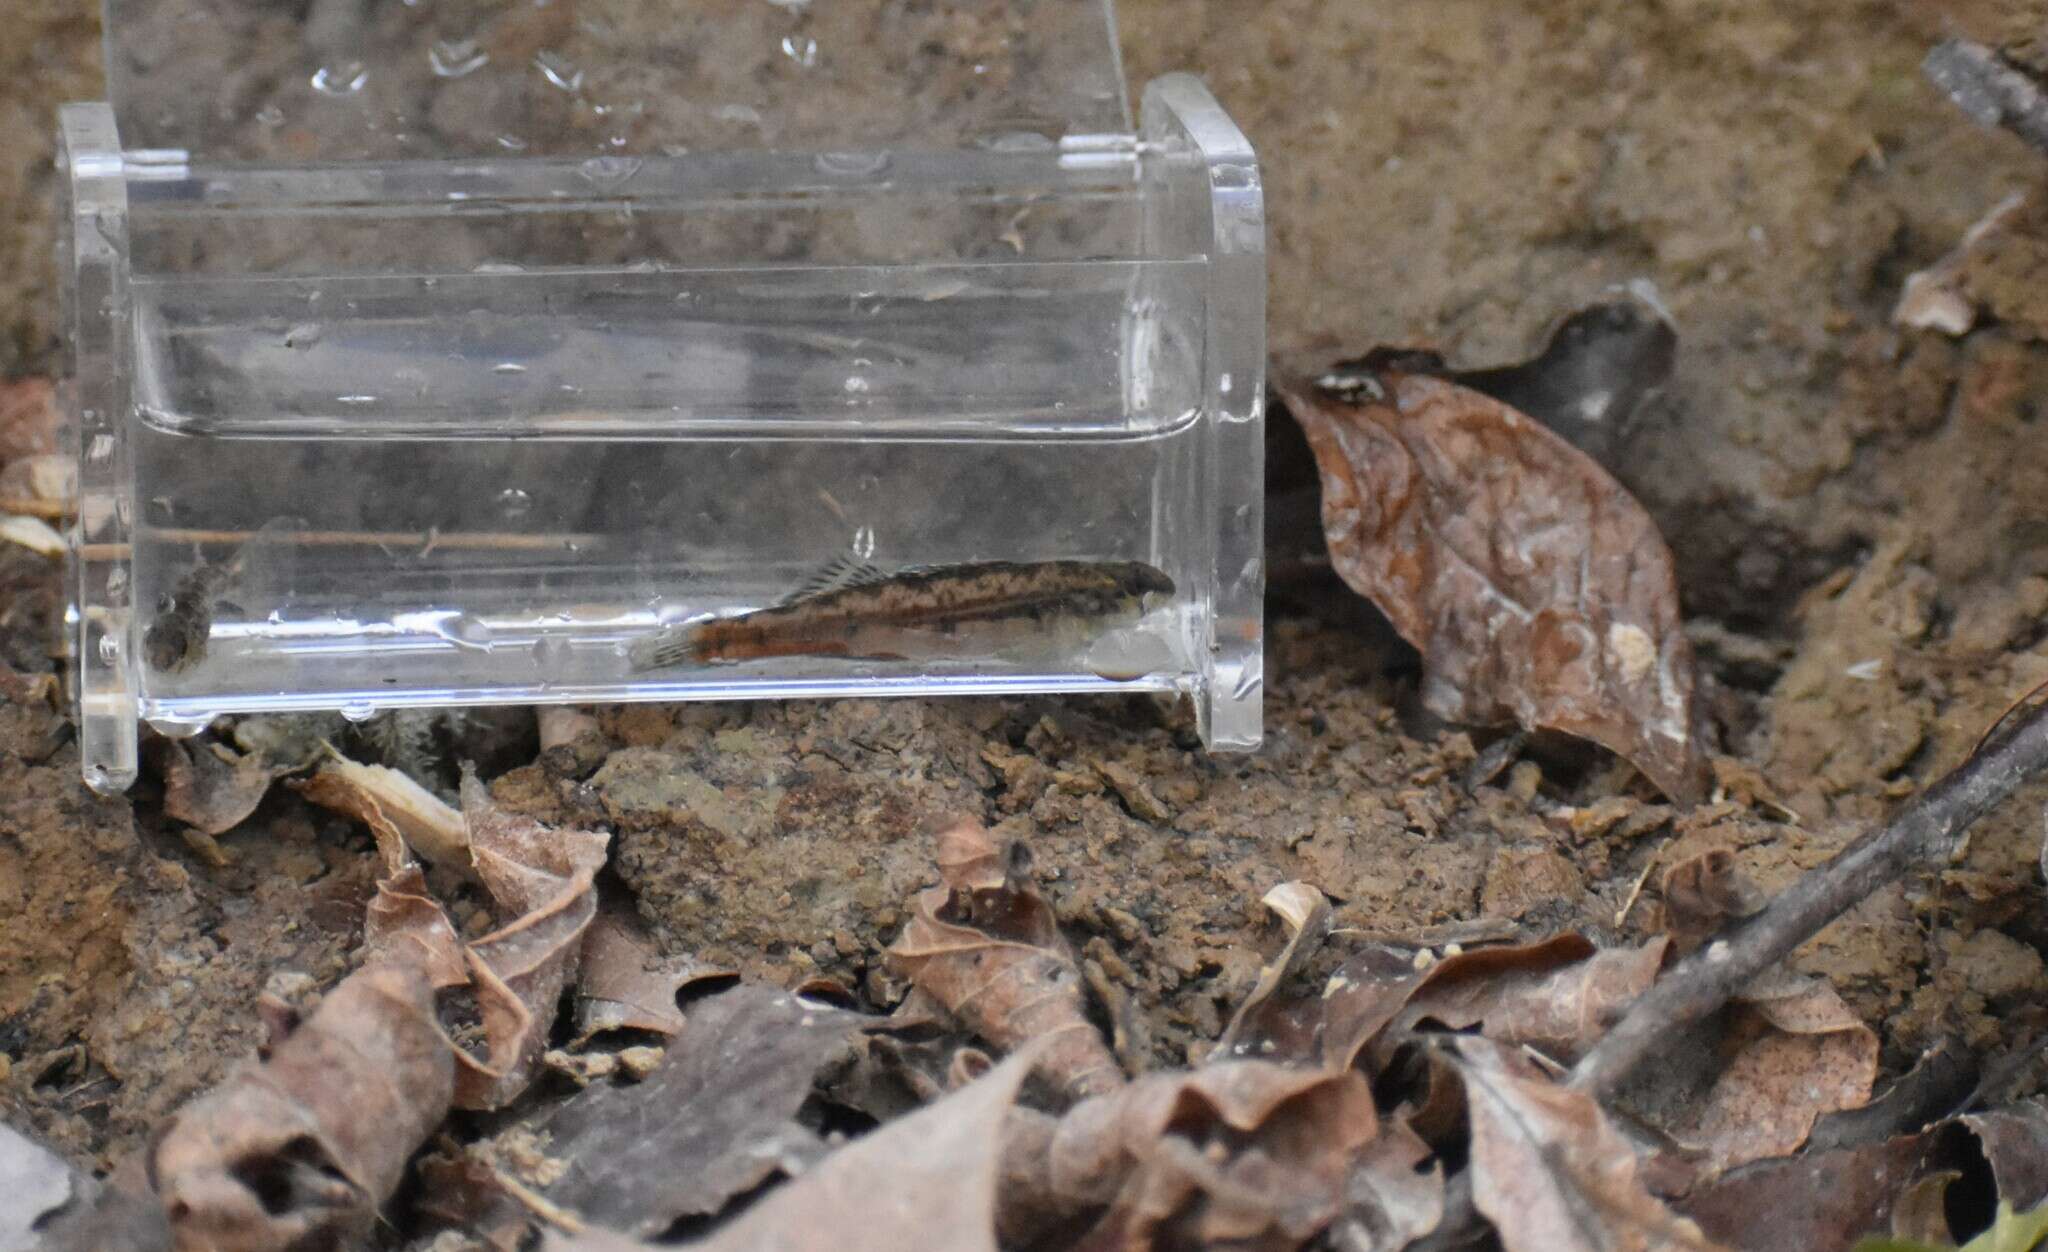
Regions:
[[[106, 0], [106, 72], [92, 787], [295, 709], [1167, 691], [1257, 744], [1257, 164], [1188, 76], [1133, 125], [1108, 0]], [[836, 594], [848, 648], [649, 664]]]

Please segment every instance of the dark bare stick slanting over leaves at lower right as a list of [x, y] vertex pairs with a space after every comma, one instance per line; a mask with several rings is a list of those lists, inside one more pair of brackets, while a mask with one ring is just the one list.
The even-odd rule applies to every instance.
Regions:
[[2044, 766], [2048, 705], [2017, 717], [2011, 729], [1913, 797], [1890, 822], [1800, 875], [1763, 912], [1679, 961], [1585, 1053], [1571, 1084], [1595, 1096], [1610, 1094], [1673, 1031], [1718, 1010], [1855, 902], [1917, 865], [1946, 861], [1970, 822]]

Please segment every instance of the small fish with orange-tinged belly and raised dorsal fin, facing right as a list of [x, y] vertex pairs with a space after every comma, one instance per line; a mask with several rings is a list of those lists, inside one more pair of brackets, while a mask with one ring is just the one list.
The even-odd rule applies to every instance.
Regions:
[[635, 670], [770, 656], [907, 660], [1085, 641], [1139, 621], [1174, 580], [1143, 561], [977, 561], [885, 574], [829, 566], [768, 609], [672, 627], [633, 645]]

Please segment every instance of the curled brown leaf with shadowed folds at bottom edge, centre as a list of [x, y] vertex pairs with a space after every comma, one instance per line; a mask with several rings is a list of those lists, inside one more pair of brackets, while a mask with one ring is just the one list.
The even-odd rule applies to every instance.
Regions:
[[1376, 1129], [1348, 1070], [1233, 1059], [1145, 1074], [1057, 1123], [1012, 1117], [997, 1225], [1042, 1236], [1106, 1207], [1081, 1246], [1296, 1248], [1343, 1209]]

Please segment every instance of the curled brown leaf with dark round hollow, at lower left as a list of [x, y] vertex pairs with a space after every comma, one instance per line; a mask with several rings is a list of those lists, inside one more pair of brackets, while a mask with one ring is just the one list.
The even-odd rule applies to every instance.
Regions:
[[451, 1049], [406, 965], [342, 979], [270, 1057], [172, 1117], [150, 1180], [180, 1252], [270, 1252], [367, 1229], [440, 1123]]

